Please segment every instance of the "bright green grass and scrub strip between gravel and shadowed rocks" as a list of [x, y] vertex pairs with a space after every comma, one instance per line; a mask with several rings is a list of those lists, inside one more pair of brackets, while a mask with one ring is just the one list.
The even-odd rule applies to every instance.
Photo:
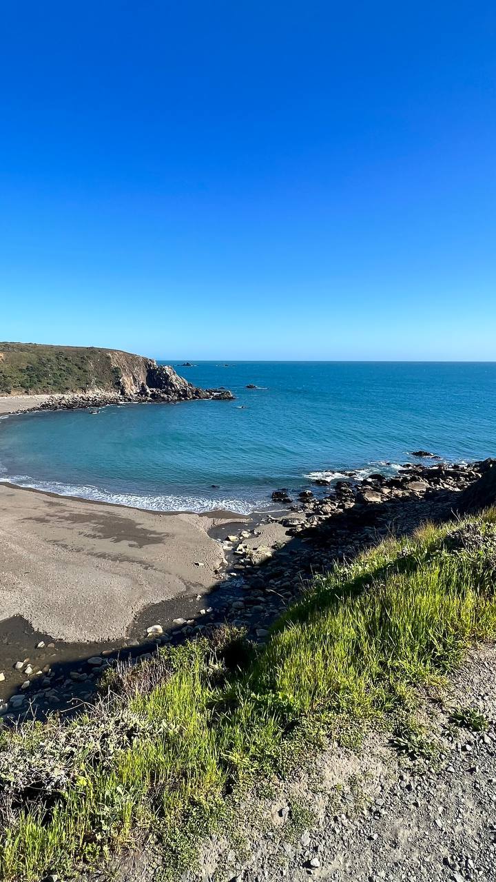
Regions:
[[428, 526], [336, 567], [265, 647], [223, 632], [165, 648], [121, 671], [94, 714], [4, 733], [1, 878], [66, 875], [150, 836], [177, 878], [195, 839], [229, 823], [227, 796], [322, 733], [404, 713], [419, 684], [496, 638], [494, 519], [477, 521], [475, 551], [448, 550], [450, 527]]

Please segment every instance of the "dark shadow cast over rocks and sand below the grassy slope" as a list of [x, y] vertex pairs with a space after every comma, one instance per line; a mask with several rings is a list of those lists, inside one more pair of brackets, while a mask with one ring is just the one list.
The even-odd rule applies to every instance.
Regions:
[[[11, 703], [8, 708], [4, 707], [0, 720], [12, 725], [21, 719], [44, 719], [54, 711], [71, 718], [91, 708], [101, 676], [117, 660], [149, 657], [158, 647], [194, 639], [199, 633], [207, 634], [221, 624], [243, 626], [251, 639], [263, 641], [274, 618], [302, 594], [315, 575], [326, 572], [334, 562], [350, 560], [387, 535], [410, 534], [427, 520], [439, 523], [455, 518], [458, 496], [455, 491], [430, 490], [422, 498], [354, 505], [336, 512], [318, 526], [306, 527], [290, 536], [281, 548], [274, 549], [265, 563], [229, 569], [231, 574], [226, 572], [201, 596], [201, 602], [195, 597], [183, 596], [143, 609], [132, 624], [128, 639], [120, 643], [63, 644], [61, 658], [60, 642], [34, 632], [21, 617], [5, 621], [3, 640], [9, 641], [9, 646], [16, 645], [17, 641], [19, 652], [26, 645], [37, 647], [42, 642], [44, 646], [36, 648], [33, 660], [28, 662], [34, 676], [29, 676], [26, 691], [16, 691], [19, 684], [12, 684], [7, 698], [13, 696], [14, 706]], [[225, 534], [231, 532], [232, 525], [226, 525]], [[216, 535], [219, 536], [219, 527]], [[229, 564], [236, 565], [235, 560], [231, 559]], [[156, 623], [162, 625], [162, 634], [156, 639], [143, 640], [147, 627]]]

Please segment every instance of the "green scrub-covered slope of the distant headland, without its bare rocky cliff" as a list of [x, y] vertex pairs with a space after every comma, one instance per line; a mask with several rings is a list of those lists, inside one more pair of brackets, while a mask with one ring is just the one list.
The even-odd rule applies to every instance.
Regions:
[[119, 377], [109, 349], [0, 343], [0, 394], [117, 391]]

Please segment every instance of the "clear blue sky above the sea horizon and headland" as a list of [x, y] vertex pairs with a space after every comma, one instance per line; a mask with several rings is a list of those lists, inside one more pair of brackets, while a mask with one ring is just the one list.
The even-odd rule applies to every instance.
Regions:
[[496, 358], [496, 7], [3, 4], [0, 339]]

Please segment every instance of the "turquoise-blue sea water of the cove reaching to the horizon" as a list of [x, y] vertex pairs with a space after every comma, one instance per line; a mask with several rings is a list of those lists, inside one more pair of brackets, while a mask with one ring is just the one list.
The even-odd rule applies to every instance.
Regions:
[[447, 460], [496, 454], [496, 363], [177, 370], [195, 385], [224, 385], [237, 400], [9, 417], [0, 422], [1, 478], [138, 507], [248, 512], [269, 505], [275, 488], [301, 489], [342, 469], [377, 471], [385, 461], [394, 470], [417, 448]]

